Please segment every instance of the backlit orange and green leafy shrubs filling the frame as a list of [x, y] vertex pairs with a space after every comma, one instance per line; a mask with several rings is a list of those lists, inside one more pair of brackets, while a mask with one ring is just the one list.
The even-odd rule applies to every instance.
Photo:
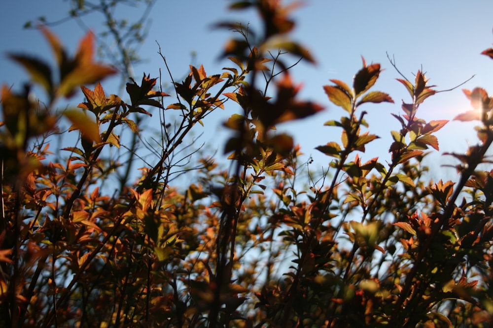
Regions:
[[[439, 150], [434, 134], [447, 121], [418, 114], [440, 91], [421, 71], [401, 76], [410, 100], [393, 115], [390, 162], [362, 163], [357, 152], [378, 138], [365, 104], [393, 103], [374, 89], [381, 65], [363, 59], [352, 86], [334, 79], [323, 87], [343, 109], [325, 123], [341, 140], [317, 147], [330, 164], [314, 181], [301, 170], [299, 146], [275, 130], [323, 109], [299, 99], [282, 56], [314, 61], [289, 38], [295, 7], [231, 4], [255, 9], [263, 30], [219, 23], [237, 32], [223, 53], [230, 67], [208, 75], [190, 66], [174, 83], [176, 99], [146, 74], [126, 84], [125, 97], [107, 95], [100, 80], [115, 70], [94, 61], [91, 33], [69, 58], [40, 28], [56, 70], [10, 55], [46, 101], [33, 101], [29, 88], [2, 88], [2, 327], [489, 327], [493, 170], [478, 167], [489, 163], [493, 97], [464, 90], [473, 109], [456, 119], [480, 122], [478, 143], [449, 154], [457, 182], [427, 181], [422, 161]], [[86, 101], [57, 111], [79, 87]], [[230, 168], [205, 157], [184, 168], [186, 180], [173, 180], [196, 151], [183, 146], [193, 145], [194, 126], [229, 107], [240, 109], [224, 122]], [[151, 115], [162, 123], [155, 159], [142, 158], [135, 183], [109, 192], [130, 165], [111, 151], [125, 149], [118, 131], [141, 135], [133, 118]], [[61, 152], [50, 145], [57, 138]]]

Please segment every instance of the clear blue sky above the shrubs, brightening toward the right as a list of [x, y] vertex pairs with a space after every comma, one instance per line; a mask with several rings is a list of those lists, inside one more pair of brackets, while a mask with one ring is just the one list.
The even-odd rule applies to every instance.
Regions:
[[[161, 44], [176, 78], [187, 71], [192, 51], [197, 53], [197, 64], [203, 63], [208, 74], [217, 73], [218, 69], [226, 66], [225, 61], [217, 58], [227, 37], [232, 34], [211, 30], [211, 25], [217, 21], [241, 20], [250, 21], [255, 28], [251, 11], [231, 13], [225, 10], [230, 2], [158, 1], [150, 16], [152, 25], [149, 35], [140, 51], [141, 57], [147, 61], [135, 67], [136, 76], [140, 77], [145, 71], [157, 77], [159, 68], [164, 68], [156, 53], [155, 40]], [[57, 20], [64, 17], [68, 9], [67, 1], [61, 0], [4, 1], [0, 10], [0, 83], [14, 83], [14, 88], [20, 88], [21, 82], [27, 79], [21, 68], [5, 59], [3, 54], [7, 51], [34, 53], [51, 59], [40, 33], [23, 30], [24, 23], [39, 16]], [[137, 9], [128, 8], [122, 16], [135, 15], [136, 12]], [[382, 139], [374, 142], [363, 157], [389, 158], [389, 130], [399, 128], [390, 113], [401, 113], [401, 99], [409, 99], [404, 88], [395, 81], [399, 76], [388, 62], [386, 52], [395, 56], [398, 68], [410, 79], [423, 66], [430, 82], [438, 86], [437, 89], [452, 88], [475, 74], [476, 77], [465, 86], [440, 93], [426, 101], [418, 115], [426, 120], [453, 119], [470, 109], [462, 88], [481, 86], [493, 93], [493, 60], [479, 55], [492, 46], [492, 13], [491, 0], [306, 1], [305, 6], [294, 13], [297, 27], [293, 38], [310, 49], [317, 65], [300, 64], [292, 74], [296, 81], [304, 85], [302, 97], [325, 105], [326, 110], [313, 118], [278, 128], [288, 130], [307, 155], [314, 155], [315, 167], [327, 167], [330, 158], [319, 154], [314, 148], [334, 139], [339, 141], [340, 131], [322, 124], [328, 119], [339, 118], [343, 112], [328, 102], [322, 86], [328, 84], [329, 79], [351, 83], [353, 74], [361, 67], [362, 55], [369, 62], [380, 62], [386, 69], [375, 88], [389, 93], [395, 101], [395, 104], [366, 105], [364, 108], [369, 113], [370, 130]], [[101, 23], [100, 16], [92, 16], [86, 25], [97, 31]], [[53, 30], [72, 52], [84, 34], [73, 21]], [[115, 83], [108, 82], [103, 86], [109, 90], [108, 93], [118, 92]], [[81, 100], [76, 97], [74, 102]], [[215, 117], [215, 125], [206, 125], [204, 137], [208, 140], [216, 138], [217, 133], [223, 131], [221, 121], [236, 111], [237, 108], [227, 108], [226, 112], [219, 113]], [[473, 126], [473, 123], [463, 122], [446, 125], [437, 135], [441, 151], [463, 151], [468, 144], [476, 143]], [[434, 170], [440, 170], [439, 164], [447, 161], [439, 156], [433, 159]], [[454, 170], [448, 169], [447, 172], [444, 178], [455, 175]]]

